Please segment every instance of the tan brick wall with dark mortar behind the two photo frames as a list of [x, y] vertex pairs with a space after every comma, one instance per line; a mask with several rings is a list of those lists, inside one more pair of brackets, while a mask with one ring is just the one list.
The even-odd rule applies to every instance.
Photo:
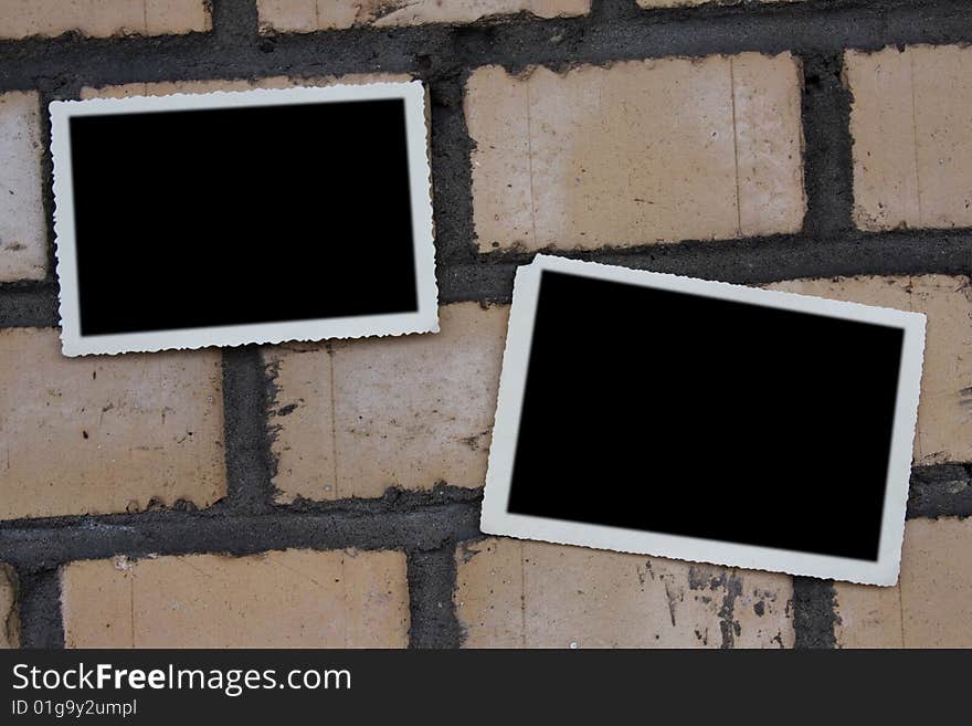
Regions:
[[[0, 0], [0, 646], [972, 645], [970, 42], [960, 0]], [[440, 335], [60, 356], [50, 101], [411, 77]], [[926, 313], [899, 585], [484, 538], [538, 250]]]

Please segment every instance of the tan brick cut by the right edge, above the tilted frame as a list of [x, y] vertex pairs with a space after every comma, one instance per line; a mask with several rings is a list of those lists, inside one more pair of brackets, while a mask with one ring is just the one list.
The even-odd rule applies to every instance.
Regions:
[[972, 225], [972, 49], [848, 51], [844, 63], [857, 227]]

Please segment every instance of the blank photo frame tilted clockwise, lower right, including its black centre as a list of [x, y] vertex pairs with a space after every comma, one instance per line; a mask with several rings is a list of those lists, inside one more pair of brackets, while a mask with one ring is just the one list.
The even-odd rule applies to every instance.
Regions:
[[539, 255], [482, 529], [892, 585], [923, 347], [916, 313]]

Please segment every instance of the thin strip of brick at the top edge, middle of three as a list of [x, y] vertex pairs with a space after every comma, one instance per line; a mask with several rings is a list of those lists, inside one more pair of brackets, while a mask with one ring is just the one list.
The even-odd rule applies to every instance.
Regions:
[[471, 23], [492, 15], [583, 15], [591, 0], [256, 0], [263, 33], [309, 33], [356, 25]]

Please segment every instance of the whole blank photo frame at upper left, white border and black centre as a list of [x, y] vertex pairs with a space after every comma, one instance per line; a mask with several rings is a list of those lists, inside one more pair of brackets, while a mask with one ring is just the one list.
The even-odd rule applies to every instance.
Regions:
[[421, 83], [50, 112], [65, 355], [437, 332]]

